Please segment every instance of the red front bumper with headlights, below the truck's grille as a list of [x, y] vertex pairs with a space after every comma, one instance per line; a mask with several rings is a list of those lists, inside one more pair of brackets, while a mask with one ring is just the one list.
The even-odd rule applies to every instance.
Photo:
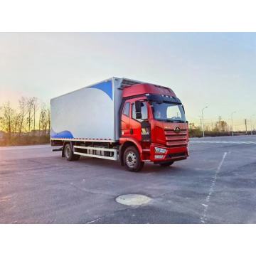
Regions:
[[[155, 147], [166, 149], [165, 153], [156, 153]], [[179, 161], [186, 159], [189, 155], [188, 146], [166, 147], [159, 144], [151, 144], [150, 146], [150, 161], [166, 162]]]

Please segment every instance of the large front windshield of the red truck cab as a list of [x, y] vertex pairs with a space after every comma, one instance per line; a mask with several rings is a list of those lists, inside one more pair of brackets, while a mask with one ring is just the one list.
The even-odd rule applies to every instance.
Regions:
[[181, 104], [171, 102], [151, 102], [154, 119], [165, 122], [186, 122]]

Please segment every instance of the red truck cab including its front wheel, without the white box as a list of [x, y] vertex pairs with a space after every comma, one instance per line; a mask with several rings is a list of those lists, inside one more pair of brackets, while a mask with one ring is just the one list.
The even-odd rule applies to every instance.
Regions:
[[188, 157], [188, 122], [181, 101], [168, 87], [147, 83], [123, 88], [120, 156], [129, 171], [144, 162], [170, 166]]

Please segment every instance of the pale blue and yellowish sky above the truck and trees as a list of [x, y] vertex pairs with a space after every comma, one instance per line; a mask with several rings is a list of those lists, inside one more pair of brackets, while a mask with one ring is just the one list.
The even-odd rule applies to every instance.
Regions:
[[113, 76], [171, 87], [189, 122], [256, 127], [256, 33], [0, 33], [0, 105]]

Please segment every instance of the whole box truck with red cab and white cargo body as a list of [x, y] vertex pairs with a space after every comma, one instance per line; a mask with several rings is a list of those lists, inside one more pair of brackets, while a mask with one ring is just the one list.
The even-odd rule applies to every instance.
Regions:
[[50, 141], [68, 161], [119, 160], [129, 171], [144, 162], [170, 166], [188, 157], [188, 122], [169, 87], [110, 78], [50, 100]]

